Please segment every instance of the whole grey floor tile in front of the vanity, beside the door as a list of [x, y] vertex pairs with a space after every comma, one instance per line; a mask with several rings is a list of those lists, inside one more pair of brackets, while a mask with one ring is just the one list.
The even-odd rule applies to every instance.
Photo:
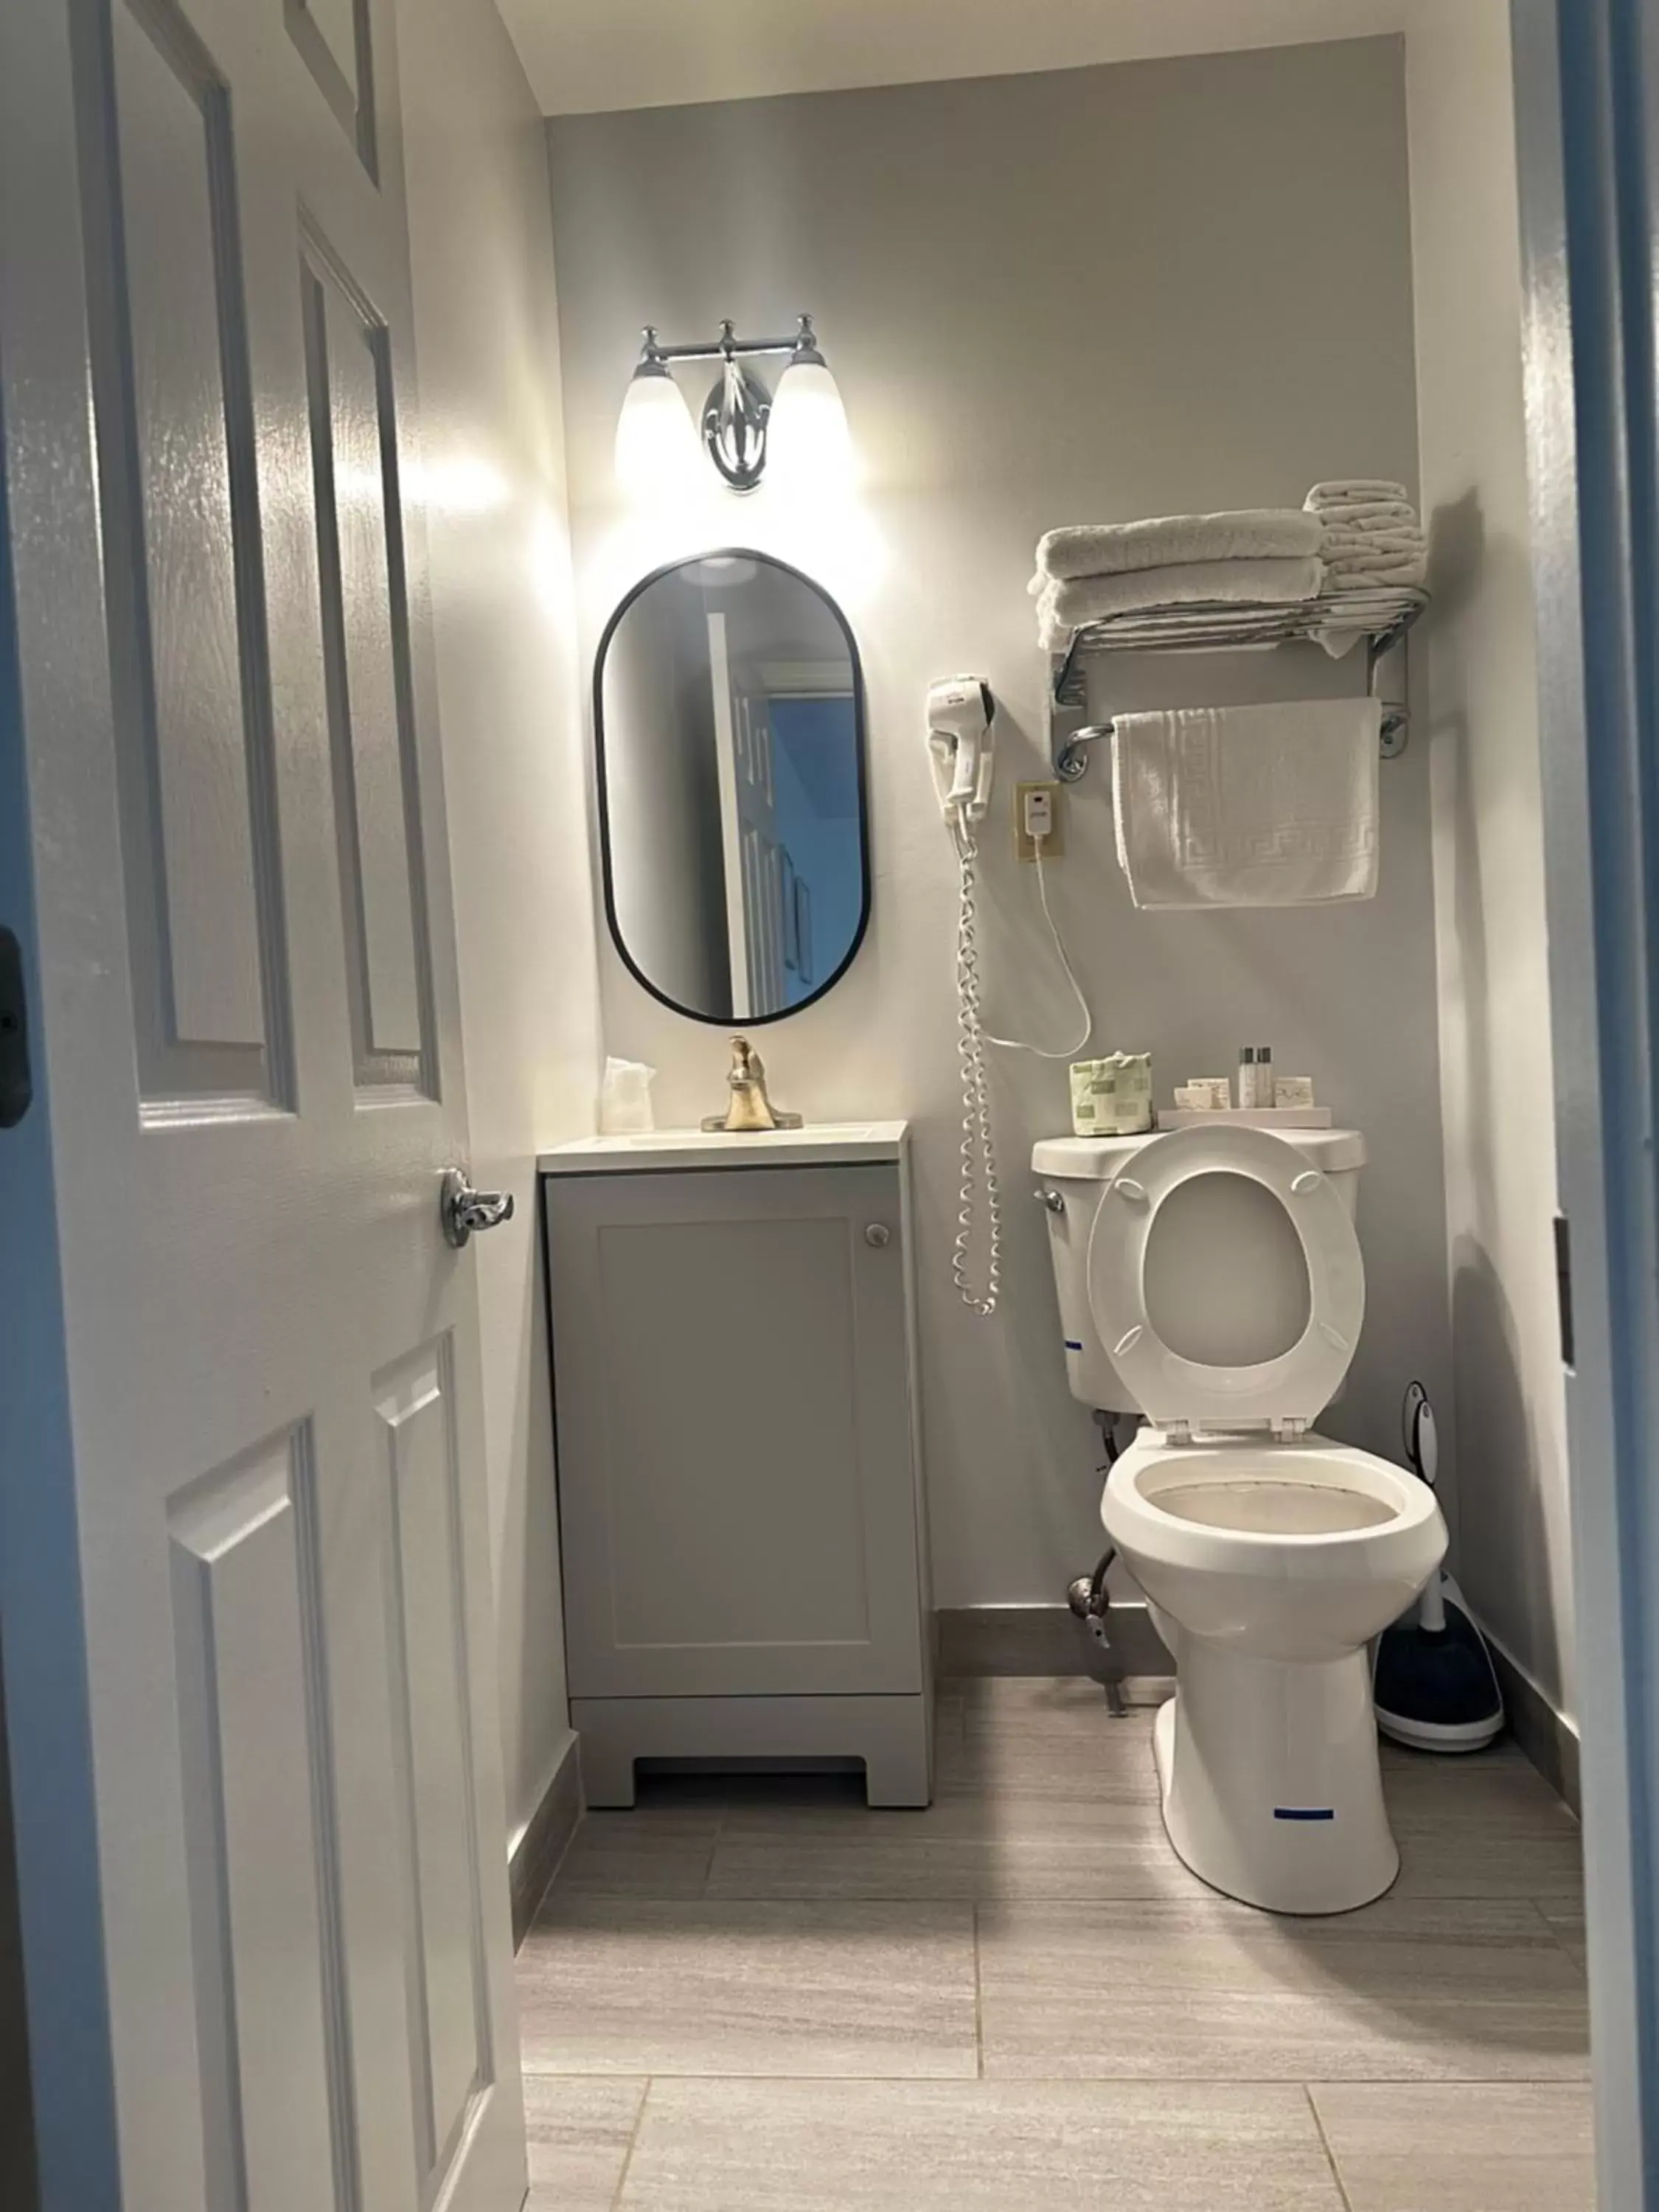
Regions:
[[555, 1891], [518, 1989], [524, 2064], [538, 2073], [975, 2070], [967, 1905]]

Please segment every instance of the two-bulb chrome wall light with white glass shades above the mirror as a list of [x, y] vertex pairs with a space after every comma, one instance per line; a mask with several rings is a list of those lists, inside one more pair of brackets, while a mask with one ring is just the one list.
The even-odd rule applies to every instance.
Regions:
[[[776, 396], [745, 361], [787, 354]], [[675, 361], [719, 361], [701, 431], [708, 458], [732, 491], [754, 491], [768, 460], [790, 482], [830, 482], [852, 451], [847, 409], [818, 352], [812, 316], [792, 338], [739, 338], [732, 323], [710, 345], [659, 345], [646, 325], [639, 365], [617, 420], [617, 478], [630, 491], [681, 484], [697, 456], [697, 431], [675, 383]]]

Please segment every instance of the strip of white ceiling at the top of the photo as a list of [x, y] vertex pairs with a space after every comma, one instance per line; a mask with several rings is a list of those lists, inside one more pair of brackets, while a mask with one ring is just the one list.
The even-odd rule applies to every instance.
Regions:
[[[1455, 0], [1440, 0], [1442, 7]], [[1405, 29], [1411, 0], [498, 0], [546, 115]]]

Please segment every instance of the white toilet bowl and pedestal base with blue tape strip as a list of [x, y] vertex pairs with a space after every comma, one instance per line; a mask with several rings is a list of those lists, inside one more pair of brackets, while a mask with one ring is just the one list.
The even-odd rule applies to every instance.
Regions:
[[1212, 1889], [1340, 1913], [1394, 1882], [1365, 1646], [1447, 1548], [1433, 1491], [1323, 1436], [1148, 1429], [1099, 1517], [1175, 1657], [1152, 1752], [1164, 1825]]

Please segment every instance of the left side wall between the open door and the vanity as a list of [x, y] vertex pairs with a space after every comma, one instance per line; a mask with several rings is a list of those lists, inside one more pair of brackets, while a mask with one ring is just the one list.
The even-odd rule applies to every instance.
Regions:
[[507, 1739], [522, 1827], [568, 1741], [535, 1152], [593, 1126], [597, 1006], [542, 124], [491, 0], [405, 0], [400, 75]]

